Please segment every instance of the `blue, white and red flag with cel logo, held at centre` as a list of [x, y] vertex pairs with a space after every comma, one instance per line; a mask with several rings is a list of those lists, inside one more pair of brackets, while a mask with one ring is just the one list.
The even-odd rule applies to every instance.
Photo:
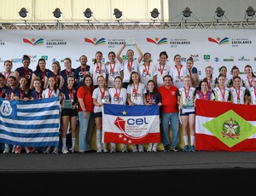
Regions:
[[160, 142], [160, 108], [104, 104], [102, 141], [125, 144]]

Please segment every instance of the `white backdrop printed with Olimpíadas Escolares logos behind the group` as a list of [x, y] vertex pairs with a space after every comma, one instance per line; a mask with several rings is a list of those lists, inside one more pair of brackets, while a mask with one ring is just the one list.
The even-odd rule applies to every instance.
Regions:
[[[209, 41], [209, 39], [212, 40]], [[195, 57], [195, 66], [199, 70], [200, 78], [205, 76], [205, 67], [213, 67], [213, 77], [218, 76], [218, 68], [227, 66], [228, 72], [232, 66], [238, 66], [243, 72], [244, 66], [255, 67], [256, 63], [256, 30], [61, 30], [46, 31], [32, 30], [0, 31], [0, 60], [13, 61], [13, 70], [22, 66], [22, 56], [32, 58], [30, 68], [36, 69], [39, 58], [47, 61], [47, 68], [51, 69], [52, 61], [60, 61], [61, 69], [63, 59], [72, 59], [72, 66], [79, 66], [79, 57], [87, 55], [88, 64], [91, 65], [96, 51], [102, 51], [103, 61], [108, 61], [108, 52], [115, 53], [121, 44], [131, 44], [127, 49], [137, 51], [138, 47], [152, 55], [153, 63], [159, 60], [161, 51], [169, 55], [168, 63], [173, 65], [173, 56], [181, 55], [183, 64], [190, 57]], [[0, 66], [3, 71], [3, 65]], [[255, 71], [255, 70], [253, 70]]]

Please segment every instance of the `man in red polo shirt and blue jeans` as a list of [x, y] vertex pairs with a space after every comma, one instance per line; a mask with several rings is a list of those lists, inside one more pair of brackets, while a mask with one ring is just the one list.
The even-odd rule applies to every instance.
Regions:
[[158, 88], [162, 97], [162, 106], [160, 107], [161, 116], [161, 134], [164, 151], [170, 151], [171, 141], [169, 139], [169, 122], [172, 130], [172, 150], [178, 151], [179, 144], [179, 120], [178, 120], [178, 106], [177, 95], [178, 89], [172, 85], [172, 77], [166, 75], [164, 78], [164, 85]]

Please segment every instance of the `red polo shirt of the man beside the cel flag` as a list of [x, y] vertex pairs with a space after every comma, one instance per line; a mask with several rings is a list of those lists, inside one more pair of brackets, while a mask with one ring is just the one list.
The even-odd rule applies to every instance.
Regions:
[[165, 85], [158, 88], [158, 92], [162, 98], [161, 112], [174, 113], [177, 112], [177, 95], [178, 89], [176, 86], [171, 85], [170, 89], [167, 89]]

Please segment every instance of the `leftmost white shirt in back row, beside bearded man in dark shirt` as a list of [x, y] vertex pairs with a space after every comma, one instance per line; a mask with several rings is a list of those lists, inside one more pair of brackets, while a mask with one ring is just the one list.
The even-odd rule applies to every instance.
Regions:
[[107, 69], [105, 63], [95, 63], [90, 66], [90, 73], [92, 74], [93, 85], [98, 85], [97, 78], [98, 76], [103, 76], [106, 79]]

